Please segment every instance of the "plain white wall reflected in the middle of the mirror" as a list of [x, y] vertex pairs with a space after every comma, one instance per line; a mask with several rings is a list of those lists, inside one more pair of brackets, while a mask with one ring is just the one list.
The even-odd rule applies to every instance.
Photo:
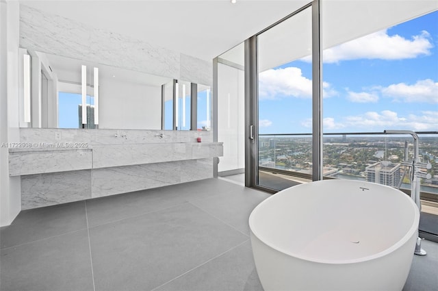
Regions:
[[162, 88], [99, 80], [100, 129], [161, 129]]

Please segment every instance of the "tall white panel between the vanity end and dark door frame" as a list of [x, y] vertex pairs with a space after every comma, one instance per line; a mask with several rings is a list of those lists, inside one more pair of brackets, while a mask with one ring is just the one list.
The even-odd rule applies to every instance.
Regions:
[[218, 171], [245, 168], [244, 71], [218, 64], [218, 142], [224, 143]]

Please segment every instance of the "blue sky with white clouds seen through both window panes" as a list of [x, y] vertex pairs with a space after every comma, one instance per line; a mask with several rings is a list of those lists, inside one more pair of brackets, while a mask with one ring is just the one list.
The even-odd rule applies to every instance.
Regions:
[[[438, 12], [324, 51], [324, 132], [438, 130]], [[259, 75], [261, 134], [311, 132], [311, 63]]]

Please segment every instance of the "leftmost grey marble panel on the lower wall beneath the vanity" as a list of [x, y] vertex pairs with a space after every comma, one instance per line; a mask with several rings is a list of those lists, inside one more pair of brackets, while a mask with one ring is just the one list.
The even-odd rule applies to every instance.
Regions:
[[91, 198], [91, 170], [21, 176], [21, 209]]

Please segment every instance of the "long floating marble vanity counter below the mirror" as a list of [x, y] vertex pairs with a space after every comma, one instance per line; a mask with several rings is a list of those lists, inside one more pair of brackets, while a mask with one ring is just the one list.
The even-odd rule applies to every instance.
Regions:
[[19, 145], [22, 147], [9, 149], [10, 176], [199, 160], [223, 155], [222, 142]]

